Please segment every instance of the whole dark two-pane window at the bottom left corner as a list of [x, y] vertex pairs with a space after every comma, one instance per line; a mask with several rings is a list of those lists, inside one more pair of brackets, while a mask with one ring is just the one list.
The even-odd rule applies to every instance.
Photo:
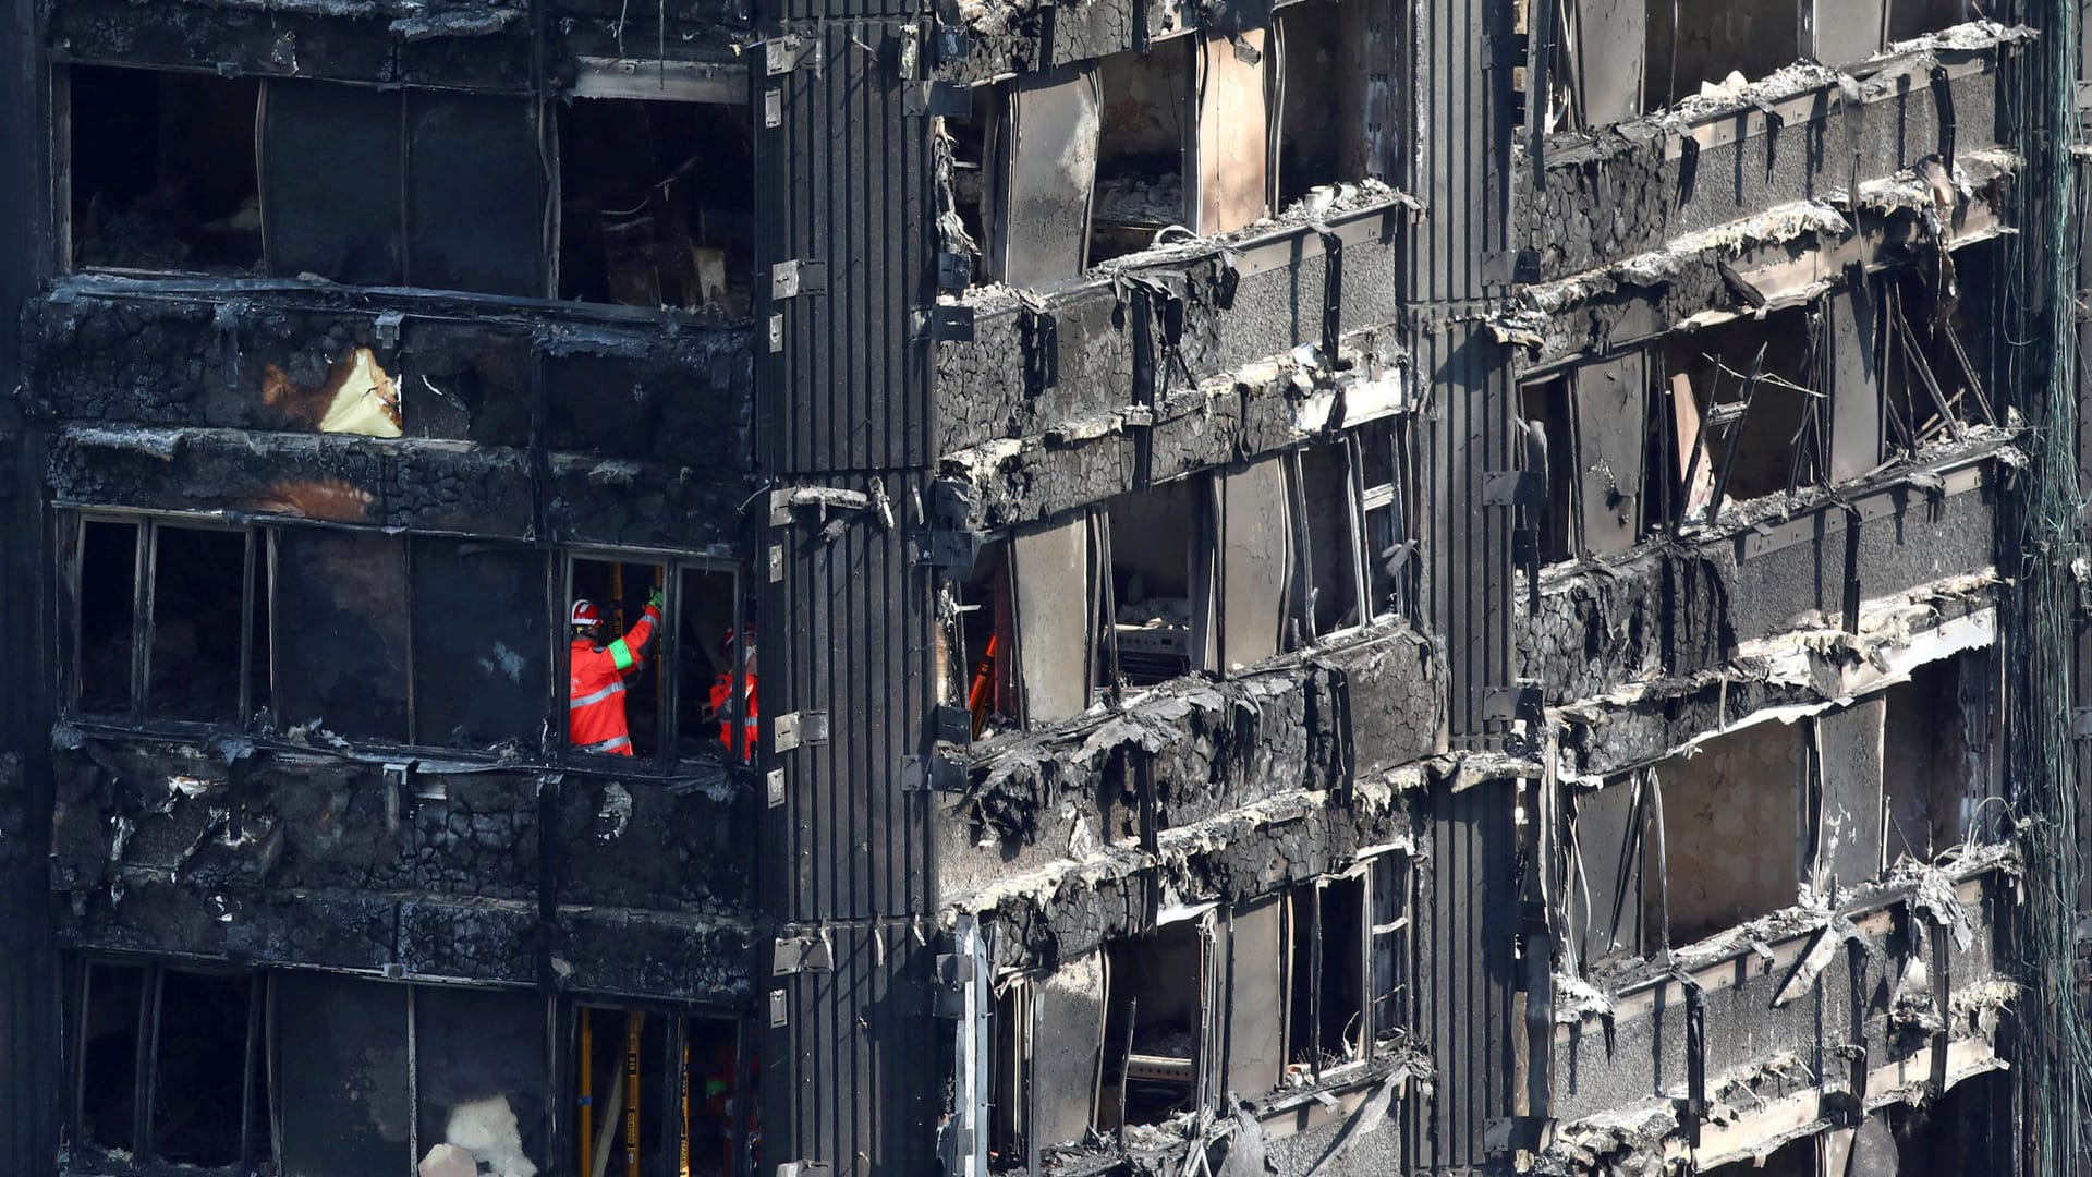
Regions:
[[136, 1167], [245, 1173], [270, 1158], [262, 993], [251, 974], [82, 961], [75, 1146]]

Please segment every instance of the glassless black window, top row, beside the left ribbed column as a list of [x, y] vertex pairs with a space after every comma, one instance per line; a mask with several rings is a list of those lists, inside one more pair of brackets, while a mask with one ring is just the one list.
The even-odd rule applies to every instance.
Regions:
[[749, 310], [747, 105], [577, 98], [561, 109], [559, 297]]

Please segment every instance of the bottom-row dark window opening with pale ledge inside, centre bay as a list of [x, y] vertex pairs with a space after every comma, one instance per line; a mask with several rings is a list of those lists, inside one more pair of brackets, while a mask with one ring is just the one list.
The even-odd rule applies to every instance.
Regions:
[[1203, 917], [1105, 945], [1105, 1066], [1096, 1131], [1153, 1125], [1201, 1104], [1213, 1007]]

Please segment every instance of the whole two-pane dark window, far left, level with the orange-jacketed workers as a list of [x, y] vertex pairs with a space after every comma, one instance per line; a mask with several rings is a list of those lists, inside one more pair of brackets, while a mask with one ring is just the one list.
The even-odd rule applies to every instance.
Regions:
[[268, 706], [264, 532], [65, 515], [59, 542], [73, 712], [241, 725]]

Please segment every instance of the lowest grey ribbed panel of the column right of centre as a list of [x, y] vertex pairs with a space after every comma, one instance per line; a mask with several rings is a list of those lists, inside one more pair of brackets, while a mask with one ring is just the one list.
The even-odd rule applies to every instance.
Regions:
[[1479, 1169], [1483, 1131], [1513, 1112], [1517, 1032], [1513, 959], [1519, 919], [1513, 781], [1431, 794], [1431, 854], [1418, 863], [1410, 940], [1410, 1026], [1437, 1068], [1433, 1095], [1406, 1104], [1412, 1171]]

